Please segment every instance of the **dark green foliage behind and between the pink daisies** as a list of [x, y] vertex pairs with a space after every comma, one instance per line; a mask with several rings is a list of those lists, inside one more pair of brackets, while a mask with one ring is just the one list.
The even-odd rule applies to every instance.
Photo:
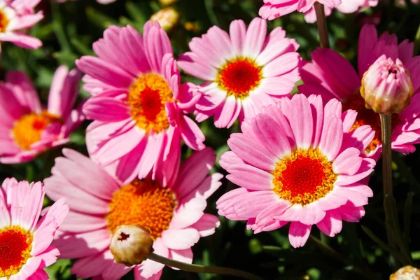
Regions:
[[[379, 34], [390, 31], [398, 35], [400, 41], [408, 38], [416, 42], [416, 54], [419, 55], [420, 6], [406, 1], [408, 6], [397, 6], [395, 1], [381, 1], [378, 7], [364, 10], [362, 13], [343, 15], [336, 11], [328, 20], [332, 48], [339, 51], [353, 64], [356, 62], [358, 34], [363, 22], [374, 18], [379, 21]], [[179, 24], [169, 32], [176, 57], [188, 50], [188, 42], [194, 36], [205, 33], [212, 25], [228, 30], [232, 20], [240, 18], [246, 23], [258, 16], [262, 0], [179, 0], [173, 7], [179, 11]], [[408, 8], [407, 8], [408, 7]], [[45, 13], [45, 19], [31, 29], [31, 35], [43, 41], [38, 50], [25, 50], [10, 43], [2, 44], [0, 76], [6, 71], [25, 71], [34, 80], [41, 100], [46, 103], [52, 75], [57, 66], [74, 66], [75, 59], [82, 55], [92, 55], [92, 43], [102, 37], [102, 32], [109, 25], [130, 24], [142, 31], [144, 23], [151, 15], [162, 8], [158, 1], [137, 0], [123, 1], [103, 6], [92, 0], [55, 3], [43, 0], [38, 6]], [[197, 22], [200, 31], [195, 34], [186, 31], [185, 22]], [[281, 26], [287, 36], [300, 43], [299, 52], [304, 59], [309, 59], [310, 52], [318, 44], [316, 25], [304, 22], [303, 15], [293, 13], [281, 19], [269, 22], [269, 28]], [[200, 83], [192, 77], [183, 75], [183, 81]], [[89, 95], [83, 90], [79, 99]], [[228, 151], [226, 140], [230, 133], [238, 131], [239, 125], [230, 130], [218, 130], [213, 120], [201, 124], [206, 134], [207, 146], [211, 146], [220, 155]], [[85, 154], [85, 127], [87, 122], [72, 135], [68, 146]], [[184, 147], [186, 158], [190, 151]], [[0, 179], [14, 176], [27, 181], [42, 181], [50, 176], [54, 158], [61, 155], [61, 149], [39, 156], [33, 162], [21, 165], [0, 165]], [[414, 261], [420, 259], [420, 151], [408, 156], [395, 154], [394, 189], [399, 213], [399, 221], [405, 241], [409, 243]], [[216, 163], [214, 172], [223, 169]], [[374, 197], [366, 207], [366, 216], [360, 223], [344, 223], [342, 232], [335, 238], [325, 237], [316, 227], [304, 248], [293, 249], [288, 242], [288, 227], [273, 232], [253, 235], [246, 231], [244, 222], [227, 221], [221, 217], [221, 226], [216, 234], [200, 239], [194, 246], [194, 262], [204, 265], [223, 265], [254, 272], [264, 279], [388, 279], [389, 274], [399, 268], [398, 261], [392, 262], [388, 252], [373, 241], [362, 229], [366, 227], [377, 239], [386, 240], [384, 228], [384, 207], [381, 191], [381, 162], [370, 180]], [[59, 186], [58, 186], [59, 187]], [[208, 212], [216, 214], [215, 202], [223, 193], [235, 188], [223, 179], [223, 186], [209, 200]], [[407, 200], [408, 197], [408, 200]], [[50, 201], [46, 200], [45, 205]], [[344, 259], [341, 259], [344, 258]], [[343, 262], [344, 260], [344, 262]], [[49, 267], [50, 279], [74, 279], [70, 274], [72, 261], [59, 260]], [[360, 269], [369, 272], [360, 273]], [[368, 274], [370, 273], [370, 274]], [[127, 274], [125, 279], [132, 279]], [[215, 275], [190, 274], [165, 268], [162, 279], [232, 279]]]

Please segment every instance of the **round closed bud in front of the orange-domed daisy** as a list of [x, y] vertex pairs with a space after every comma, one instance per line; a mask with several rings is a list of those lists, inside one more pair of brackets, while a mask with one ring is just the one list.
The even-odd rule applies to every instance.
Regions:
[[117, 263], [139, 265], [153, 253], [153, 239], [141, 225], [120, 225], [112, 235], [109, 249]]

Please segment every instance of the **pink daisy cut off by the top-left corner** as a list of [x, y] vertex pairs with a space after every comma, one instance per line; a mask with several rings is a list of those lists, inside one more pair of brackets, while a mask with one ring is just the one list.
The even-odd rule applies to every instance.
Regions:
[[41, 0], [0, 1], [0, 41], [12, 42], [22, 48], [35, 49], [42, 45], [38, 38], [19, 33], [43, 19], [42, 11], [34, 12]]

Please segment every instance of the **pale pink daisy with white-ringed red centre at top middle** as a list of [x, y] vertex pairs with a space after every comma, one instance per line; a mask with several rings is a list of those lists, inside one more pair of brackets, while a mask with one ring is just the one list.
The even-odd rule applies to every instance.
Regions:
[[252, 118], [262, 106], [290, 94], [300, 80], [299, 45], [277, 27], [268, 36], [267, 22], [255, 18], [246, 29], [242, 20], [230, 24], [230, 34], [214, 26], [190, 42], [191, 52], [179, 57], [179, 66], [206, 80], [197, 102], [196, 120], [214, 116], [216, 127]]

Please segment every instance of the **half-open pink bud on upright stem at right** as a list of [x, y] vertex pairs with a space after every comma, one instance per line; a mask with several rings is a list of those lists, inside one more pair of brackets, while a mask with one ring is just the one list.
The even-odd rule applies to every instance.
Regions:
[[414, 93], [409, 71], [397, 59], [382, 55], [365, 72], [360, 94], [367, 108], [376, 113], [400, 113]]

